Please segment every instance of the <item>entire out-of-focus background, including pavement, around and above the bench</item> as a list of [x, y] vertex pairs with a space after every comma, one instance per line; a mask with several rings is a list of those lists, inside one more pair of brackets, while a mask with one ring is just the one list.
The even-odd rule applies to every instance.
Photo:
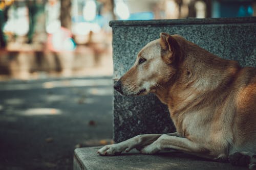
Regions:
[[72, 169], [75, 148], [113, 142], [110, 20], [255, 11], [253, 0], [1, 0], [0, 169]]

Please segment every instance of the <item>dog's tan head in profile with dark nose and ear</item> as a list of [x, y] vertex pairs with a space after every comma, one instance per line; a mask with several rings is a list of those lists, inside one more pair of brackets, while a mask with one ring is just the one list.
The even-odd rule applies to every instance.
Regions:
[[174, 38], [161, 33], [160, 38], [146, 44], [139, 52], [132, 68], [114, 85], [123, 95], [155, 92], [172, 79], [177, 70], [179, 45]]

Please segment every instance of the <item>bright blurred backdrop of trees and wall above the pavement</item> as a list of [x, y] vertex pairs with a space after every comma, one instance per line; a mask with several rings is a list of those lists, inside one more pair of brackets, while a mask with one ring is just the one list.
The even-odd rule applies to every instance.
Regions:
[[109, 21], [255, 16], [253, 0], [0, 1], [0, 78], [111, 75]]

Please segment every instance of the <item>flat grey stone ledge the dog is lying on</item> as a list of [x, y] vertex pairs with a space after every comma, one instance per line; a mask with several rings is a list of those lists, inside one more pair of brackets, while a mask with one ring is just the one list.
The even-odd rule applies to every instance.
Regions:
[[99, 156], [100, 147], [78, 148], [74, 154], [73, 170], [98, 169], [247, 169], [229, 163], [214, 162], [183, 153], [168, 152], [157, 155], [142, 155], [133, 150], [119, 156]]

